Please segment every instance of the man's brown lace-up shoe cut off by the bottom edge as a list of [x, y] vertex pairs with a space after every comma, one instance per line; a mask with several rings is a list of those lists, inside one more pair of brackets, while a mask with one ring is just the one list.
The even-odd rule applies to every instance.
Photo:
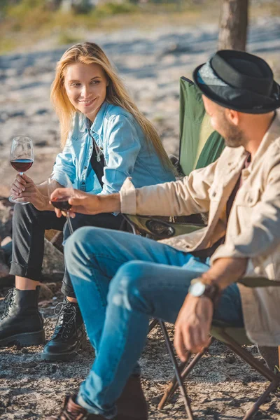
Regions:
[[74, 402], [76, 395], [65, 398], [64, 407], [58, 416], [50, 416], [45, 420], [106, 420], [99, 414], [90, 414], [87, 410]]

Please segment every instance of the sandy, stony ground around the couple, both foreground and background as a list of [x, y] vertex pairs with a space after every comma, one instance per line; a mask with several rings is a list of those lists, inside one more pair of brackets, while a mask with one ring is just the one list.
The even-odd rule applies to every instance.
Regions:
[[[109, 35], [88, 34], [87, 39], [104, 47], [139, 108], [158, 127], [167, 151], [178, 154], [179, 77], [190, 76], [194, 67], [214, 52], [216, 27], [165, 27], [148, 34], [118, 31]], [[8, 159], [10, 141], [15, 135], [27, 134], [34, 140], [36, 158], [29, 176], [39, 182], [51, 172], [59, 151], [59, 135], [49, 90], [55, 62], [64, 50], [50, 50], [46, 40], [34, 51], [0, 57], [0, 195], [8, 195], [15, 175]], [[263, 18], [251, 27], [248, 50], [265, 57], [279, 80], [279, 18]], [[41, 302], [48, 338], [55, 325], [55, 304], [62, 300], [58, 290], [59, 284], [52, 300]], [[4, 293], [1, 290], [2, 296]], [[41, 349], [0, 349], [1, 420], [45, 419], [57, 412], [64, 395], [77, 390], [94, 357], [89, 344], [72, 363], [44, 363], [39, 356]], [[257, 354], [254, 346], [248, 350]], [[158, 328], [148, 337], [141, 366], [150, 419], [186, 419], [178, 395], [162, 412], [156, 408], [172, 377], [172, 365]], [[213, 344], [190, 375], [187, 386], [197, 419], [237, 420], [267, 382], [223, 345]], [[272, 395], [255, 419], [280, 419], [279, 396]]]

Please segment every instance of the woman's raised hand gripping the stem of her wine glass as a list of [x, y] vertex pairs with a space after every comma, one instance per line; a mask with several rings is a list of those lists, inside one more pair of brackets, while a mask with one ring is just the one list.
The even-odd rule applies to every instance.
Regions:
[[30, 202], [37, 210], [49, 210], [48, 197], [43, 195], [38, 186], [26, 174], [15, 176], [10, 188], [10, 195], [17, 202]]

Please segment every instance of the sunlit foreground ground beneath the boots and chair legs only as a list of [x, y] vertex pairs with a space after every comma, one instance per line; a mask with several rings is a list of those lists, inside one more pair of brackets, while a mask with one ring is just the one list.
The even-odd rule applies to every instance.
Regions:
[[[57, 293], [52, 300], [40, 305], [47, 338], [55, 325], [53, 311], [59, 300], [61, 295]], [[171, 325], [169, 332], [173, 335]], [[48, 414], [55, 414], [64, 396], [78, 390], [94, 358], [90, 343], [68, 363], [45, 363], [40, 359], [41, 350], [42, 346], [0, 349], [1, 420], [45, 419]], [[258, 356], [255, 346], [248, 347], [248, 351]], [[159, 328], [150, 333], [140, 364], [150, 405], [149, 419], [186, 419], [178, 393], [165, 409], [157, 409], [160, 395], [173, 374]], [[197, 420], [241, 419], [267, 385], [259, 374], [218, 342], [212, 344], [186, 382]], [[274, 393], [255, 419], [280, 419], [279, 397], [279, 392]]]

